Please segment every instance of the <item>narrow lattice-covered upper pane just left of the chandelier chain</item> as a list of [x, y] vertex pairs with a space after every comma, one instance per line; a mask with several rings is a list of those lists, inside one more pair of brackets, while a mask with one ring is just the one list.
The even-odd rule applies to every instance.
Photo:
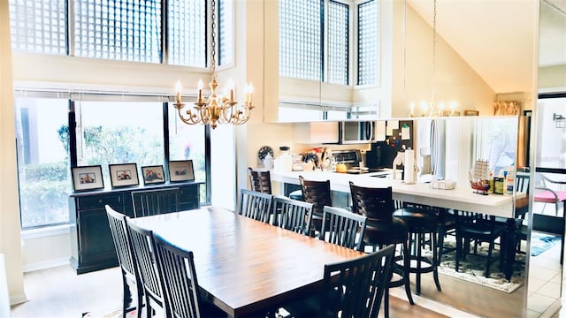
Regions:
[[168, 63], [206, 67], [206, 2], [171, 0], [167, 14]]

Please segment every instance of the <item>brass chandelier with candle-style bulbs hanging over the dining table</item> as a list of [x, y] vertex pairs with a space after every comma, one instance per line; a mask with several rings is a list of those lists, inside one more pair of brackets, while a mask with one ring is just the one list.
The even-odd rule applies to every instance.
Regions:
[[249, 115], [254, 106], [251, 103], [251, 96], [253, 93], [253, 86], [251, 83], [245, 87], [244, 102], [238, 105], [233, 99], [233, 81], [228, 81], [226, 91], [229, 94], [219, 95], [217, 93], [218, 81], [216, 74], [216, 1], [211, 2], [211, 22], [212, 22], [212, 36], [211, 36], [211, 49], [210, 49], [210, 68], [211, 68], [211, 81], [210, 81], [210, 95], [208, 98], [203, 98], [203, 80], [198, 81], [198, 98], [195, 106], [188, 110], [184, 110], [185, 103], [180, 98], [180, 81], [177, 81], [176, 91], [177, 99], [173, 106], [179, 113], [180, 120], [187, 125], [203, 124], [210, 125], [212, 129], [216, 128], [218, 124], [232, 124], [242, 125], [249, 120]]

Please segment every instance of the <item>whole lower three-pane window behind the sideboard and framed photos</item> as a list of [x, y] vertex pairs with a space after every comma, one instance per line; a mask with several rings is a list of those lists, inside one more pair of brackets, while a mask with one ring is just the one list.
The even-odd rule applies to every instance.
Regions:
[[[71, 162], [75, 156], [78, 166], [102, 166], [107, 189], [111, 187], [111, 163], [136, 163], [141, 176], [142, 166], [163, 164], [166, 169], [167, 158], [193, 160], [195, 181], [203, 182], [201, 202], [210, 202], [210, 168], [206, 166], [210, 162], [206, 159], [209, 128], [177, 125], [174, 108], [162, 97], [79, 95], [69, 99], [47, 93], [26, 95], [33, 97], [15, 101], [23, 229], [69, 222], [68, 195], [73, 192]], [[168, 117], [164, 117], [164, 107]], [[74, 110], [75, 132], [69, 131], [69, 110]], [[165, 119], [169, 125], [165, 125]], [[72, 133], [76, 148], [70, 147]], [[167, 135], [169, 139], [164, 138]]]

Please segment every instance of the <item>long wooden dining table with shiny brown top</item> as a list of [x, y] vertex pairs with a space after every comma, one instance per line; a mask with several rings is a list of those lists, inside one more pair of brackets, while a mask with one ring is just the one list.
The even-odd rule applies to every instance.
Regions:
[[203, 298], [230, 317], [262, 313], [312, 295], [322, 285], [325, 264], [363, 255], [224, 208], [132, 222], [193, 251]]

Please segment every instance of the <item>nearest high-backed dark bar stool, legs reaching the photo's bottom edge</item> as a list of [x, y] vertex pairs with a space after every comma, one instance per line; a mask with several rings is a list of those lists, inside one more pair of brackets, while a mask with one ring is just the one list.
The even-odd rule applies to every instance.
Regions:
[[[405, 286], [407, 299], [414, 305], [409, 284], [409, 231], [405, 223], [394, 217], [394, 201], [391, 186], [386, 188], [356, 186], [352, 181], [350, 194], [352, 195], [352, 212], [366, 216], [367, 222], [363, 243], [368, 246], [382, 248], [390, 244], [402, 246], [401, 254], [394, 257], [393, 272], [385, 293], [385, 316], [389, 316], [389, 288]], [[402, 261], [402, 262], [401, 262]]]

